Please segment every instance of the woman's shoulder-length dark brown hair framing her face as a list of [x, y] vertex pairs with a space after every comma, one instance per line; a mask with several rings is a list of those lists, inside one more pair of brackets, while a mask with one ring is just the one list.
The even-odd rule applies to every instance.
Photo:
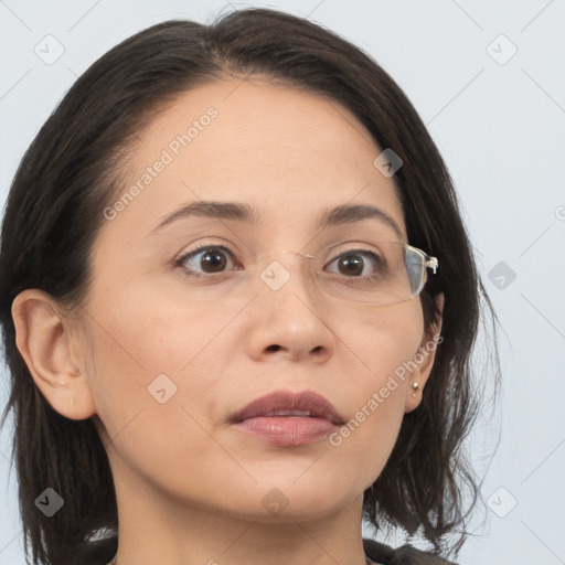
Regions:
[[[434, 296], [445, 292], [444, 341], [423, 403], [405, 415], [390, 460], [365, 491], [363, 510], [375, 527], [422, 533], [437, 553], [446, 552], [445, 540], [454, 532], [451, 550], [465, 539], [468, 510], [479, 493], [461, 448], [479, 408], [470, 360], [482, 307], [493, 320], [495, 315], [452, 181], [416, 110], [370, 56], [308, 20], [248, 9], [211, 25], [167, 21], [111, 49], [68, 90], [13, 179], [0, 249], [0, 315], [11, 374], [2, 424], [13, 411], [12, 455], [25, 551], [31, 543], [34, 564], [81, 563], [93, 544], [89, 536], [117, 532], [117, 505], [92, 418], [61, 416], [35, 386], [15, 347], [12, 301], [24, 289], [40, 288], [62, 305], [81, 305], [93, 282], [89, 254], [103, 210], [122, 190], [120, 167], [136, 134], [185, 90], [253, 74], [341, 103], [381, 148], [393, 149], [404, 162], [394, 179], [408, 242], [440, 265], [420, 295], [425, 327], [430, 331], [438, 315]], [[65, 500], [53, 518], [34, 504], [46, 487]], [[100, 562], [114, 551], [115, 545], [100, 554]]]

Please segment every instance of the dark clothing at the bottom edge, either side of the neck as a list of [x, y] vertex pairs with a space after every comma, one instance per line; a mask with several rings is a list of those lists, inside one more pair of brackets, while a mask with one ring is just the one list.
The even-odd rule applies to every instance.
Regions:
[[[109, 537], [99, 542], [90, 542], [83, 553], [84, 565], [107, 565], [116, 555], [118, 539]], [[411, 545], [393, 550], [388, 545], [363, 539], [366, 556], [381, 565], [455, 565], [431, 553], [422, 552]], [[167, 565], [167, 564], [161, 564]]]

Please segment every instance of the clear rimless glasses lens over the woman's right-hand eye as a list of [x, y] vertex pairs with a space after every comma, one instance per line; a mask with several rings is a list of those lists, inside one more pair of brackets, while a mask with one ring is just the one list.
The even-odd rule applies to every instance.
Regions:
[[318, 280], [337, 298], [373, 306], [393, 305], [416, 296], [425, 281], [425, 255], [402, 243], [367, 248], [341, 247], [330, 256]]

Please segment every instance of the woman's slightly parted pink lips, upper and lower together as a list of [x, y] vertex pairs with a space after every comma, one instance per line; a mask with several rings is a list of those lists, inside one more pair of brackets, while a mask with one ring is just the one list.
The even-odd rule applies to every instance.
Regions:
[[232, 427], [280, 446], [321, 439], [345, 423], [334, 406], [313, 391], [277, 391], [256, 398], [231, 417]]

